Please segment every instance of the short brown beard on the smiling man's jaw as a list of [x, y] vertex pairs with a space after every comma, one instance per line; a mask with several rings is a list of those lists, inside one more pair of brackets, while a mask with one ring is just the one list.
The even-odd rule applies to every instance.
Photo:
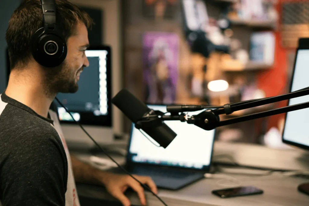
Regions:
[[[80, 68], [81, 70], [83, 68]], [[78, 84], [75, 82], [76, 72], [64, 61], [55, 68], [46, 68], [45, 81], [43, 82], [46, 94], [54, 98], [57, 93], [75, 93]]]

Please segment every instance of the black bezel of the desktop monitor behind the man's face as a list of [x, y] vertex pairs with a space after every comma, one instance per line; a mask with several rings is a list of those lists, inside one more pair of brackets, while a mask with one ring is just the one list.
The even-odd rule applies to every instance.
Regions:
[[[87, 118], [87, 120], [80, 120], [79, 123], [83, 125], [91, 125], [91, 126], [106, 126], [112, 127], [112, 104], [111, 104], [111, 93], [112, 93], [112, 54], [111, 47], [108, 45], [94, 45], [87, 48], [87, 50], [106, 50], [107, 51], [107, 61], [106, 61], [106, 83], [107, 83], [107, 106], [108, 106], [108, 115], [97, 116], [98, 120], [93, 120], [91, 118]], [[74, 112], [74, 111], [72, 111]], [[83, 115], [87, 115], [89, 112], [85, 112]], [[64, 121], [60, 120], [60, 123], [63, 125], [72, 125], [76, 124], [74, 121]]]

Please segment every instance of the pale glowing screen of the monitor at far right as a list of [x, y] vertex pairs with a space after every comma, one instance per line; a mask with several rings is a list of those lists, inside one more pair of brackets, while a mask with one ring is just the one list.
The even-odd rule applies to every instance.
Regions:
[[[291, 92], [309, 87], [309, 49], [298, 49], [295, 57]], [[309, 95], [289, 100], [289, 105], [309, 102]], [[309, 149], [309, 108], [290, 111], [286, 114], [283, 141]]]

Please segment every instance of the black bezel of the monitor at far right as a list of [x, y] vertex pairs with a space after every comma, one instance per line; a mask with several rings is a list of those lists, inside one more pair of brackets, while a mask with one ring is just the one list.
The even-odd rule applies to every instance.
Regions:
[[[293, 81], [294, 81], [294, 74], [295, 74], [295, 66], [296, 66], [296, 61], [297, 61], [299, 50], [309, 50], [309, 44], [303, 45], [302, 47], [298, 47], [296, 49], [296, 55], [295, 55], [295, 59], [294, 59], [294, 66], [293, 66], [293, 71], [292, 71], [292, 76], [291, 76], [289, 92], [291, 92], [291, 90], [292, 90], [292, 85], [293, 85]], [[289, 104], [290, 104], [290, 99], [288, 99], [288, 105]], [[297, 146], [297, 147], [302, 148], [302, 149], [309, 150], [309, 146], [302, 145], [302, 144], [284, 139], [284, 131], [285, 131], [285, 128], [286, 128], [286, 117], [287, 117], [287, 112], [285, 113], [284, 127], [283, 127], [283, 132], [282, 132], [282, 137], [281, 137], [282, 142], [285, 143], [285, 144], [288, 144], [288, 145], [293, 145], [293, 146]]]

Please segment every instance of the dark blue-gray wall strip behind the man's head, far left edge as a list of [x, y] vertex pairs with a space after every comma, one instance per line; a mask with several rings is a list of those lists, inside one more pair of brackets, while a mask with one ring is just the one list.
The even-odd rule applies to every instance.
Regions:
[[0, 93], [6, 88], [6, 40], [5, 32], [11, 15], [15, 8], [19, 5], [19, 1], [1, 1], [0, 6]]

